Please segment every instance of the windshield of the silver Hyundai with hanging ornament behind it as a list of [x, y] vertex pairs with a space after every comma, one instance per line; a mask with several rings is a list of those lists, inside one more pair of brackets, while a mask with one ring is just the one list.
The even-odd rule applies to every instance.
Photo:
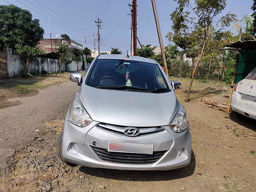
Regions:
[[122, 59], [97, 59], [86, 79], [88, 86], [144, 92], [168, 92], [157, 64]]

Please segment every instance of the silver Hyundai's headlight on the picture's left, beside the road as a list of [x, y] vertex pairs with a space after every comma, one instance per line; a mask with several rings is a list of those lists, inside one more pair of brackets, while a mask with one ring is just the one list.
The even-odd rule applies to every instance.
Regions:
[[71, 107], [70, 122], [72, 122], [73, 124], [75, 124], [79, 127], [88, 126], [92, 122], [92, 118], [86, 112], [78, 95], [75, 97], [74, 102]]

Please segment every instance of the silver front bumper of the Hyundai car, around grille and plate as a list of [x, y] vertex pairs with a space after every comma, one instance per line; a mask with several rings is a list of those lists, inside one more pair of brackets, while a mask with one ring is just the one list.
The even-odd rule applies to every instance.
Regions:
[[[190, 128], [184, 132], [175, 133], [169, 126], [163, 126], [165, 130], [161, 132], [129, 137], [100, 130], [97, 128], [97, 124], [99, 122], [92, 122], [85, 128], [80, 128], [69, 121], [69, 114], [67, 114], [62, 139], [62, 158], [65, 161], [86, 167], [118, 170], [172, 170], [182, 168], [190, 163]], [[154, 144], [155, 152], [166, 152], [159, 160], [152, 164], [106, 162], [92, 148], [94, 146], [93, 142], [96, 142], [96, 147], [104, 149], [108, 148], [108, 142]], [[181, 149], [185, 149], [185, 156], [177, 158]]]

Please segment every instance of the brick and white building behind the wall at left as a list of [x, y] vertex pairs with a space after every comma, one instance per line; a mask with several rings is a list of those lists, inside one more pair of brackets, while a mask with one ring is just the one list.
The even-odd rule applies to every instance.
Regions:
[[72, 39], [42, 39], [40, 40], [38, 47], [44, 50], [46, 53], [57, 52], [60, 44], [68, 44], [69, 54], [74, 54], [75, 49], [82, 50], [83, 46]]

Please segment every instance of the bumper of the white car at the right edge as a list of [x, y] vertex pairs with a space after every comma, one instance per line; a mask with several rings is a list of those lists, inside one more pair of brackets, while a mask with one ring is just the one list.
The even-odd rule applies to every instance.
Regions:
[[236, 91], [232, 94], [231, 109], [256, 120], [256, 103], [242, 100], [241, 94]]

